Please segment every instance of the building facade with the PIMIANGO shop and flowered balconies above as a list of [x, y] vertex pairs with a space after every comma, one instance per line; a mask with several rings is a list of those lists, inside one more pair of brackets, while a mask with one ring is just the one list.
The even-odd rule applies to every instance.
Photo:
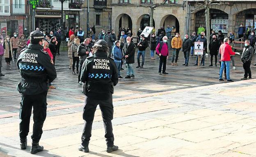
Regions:
[[[82, 11], [82, 0], [66, 0], [63, 2], [63, 25], [66, 28], [80, 26], [80, 11]], [[61, 27], [60, 0], [39, 0], [35, 9], [35, 28], [50, 33]]]

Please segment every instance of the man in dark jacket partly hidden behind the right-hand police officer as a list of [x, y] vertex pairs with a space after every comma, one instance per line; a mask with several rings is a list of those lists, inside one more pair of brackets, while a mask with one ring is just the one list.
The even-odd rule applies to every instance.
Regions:
[[78, 84], [82, 85], [81, 82], [81, 69], [82, 69], [82, 64], [85, 62], [86, 58], [89, 57], [89, 53], [91, 52], [91, 48], [89, 46], [90, 43], [90, 39], [86, 38], [84, 42], [82, 42], [79, 46], [78, 46], [78, 51], [77, 51], [77, 55], [79, 56], [79, 73], [78, 73]]

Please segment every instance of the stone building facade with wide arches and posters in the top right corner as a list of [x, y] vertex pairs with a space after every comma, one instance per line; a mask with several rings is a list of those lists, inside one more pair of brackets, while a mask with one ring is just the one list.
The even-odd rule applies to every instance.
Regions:
[[[201, 0], [198, 0], [200, 2]], [[199, 24], [206, 28], [206, 21], [203, 9], [196, 9], [194, 0], [188, 0], [190, 10], [189, 32], [197, 31]], [[238, 27], [240, 24], [245, 27], [248, 24], [256, 29], [256, 1], [255, 0], [224, 0], [224, 4], [210, 5], [210, 27], [218, 31], [222, 30], [225, 35], [234, 32], [238, 39]]]

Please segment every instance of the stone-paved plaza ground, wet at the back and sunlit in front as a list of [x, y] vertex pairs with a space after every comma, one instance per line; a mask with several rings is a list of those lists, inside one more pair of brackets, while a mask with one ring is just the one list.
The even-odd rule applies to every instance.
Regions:
[[[113, 95], [113, 133], [119, 150], [105, 152], [104, 128], [96, 110], [89, 153], [78, 151], [82, 133], [84, 95], [77, 75], [68, 69], [67, 52], [57, 56], [56, 89], [48, 93], [47, 117], [40, 144], [43, 152], [30, 154], [30, 122], [27, 150], [19, 149], [18, 114], [21, 95], [16, 84], [21, 76], [15, 66], [0, 77], [0, 156], [15, 157], [255, 157], [256, 66], [252, 80], [243, 77], [240, 56], [235, 56], [235, 82], [218, 82], [218, 67], [189, 66], [182, 52], [178, 66], [167, 60], [169, 75], [158, 75], [158, 60], [146, 53], [144, 69], [135, 79], [119, 80]], [[255, 57], [254, 57], [255, 61]], [[136, 61], [135, 61], [136, 62]], [[121, 72], [124, 77], [126, 69]], [[1, 152], [2, 151], [2, 152]], [[4, 155], [7, 154], [7, 155]]]

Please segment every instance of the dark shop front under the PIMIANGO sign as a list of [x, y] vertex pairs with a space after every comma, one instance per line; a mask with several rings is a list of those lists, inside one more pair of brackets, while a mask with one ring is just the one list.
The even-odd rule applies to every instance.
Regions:
[[60, 27], [61, 11], [36, 10], [35, 11], [35, 28], [45, 31], [55, 32]]

